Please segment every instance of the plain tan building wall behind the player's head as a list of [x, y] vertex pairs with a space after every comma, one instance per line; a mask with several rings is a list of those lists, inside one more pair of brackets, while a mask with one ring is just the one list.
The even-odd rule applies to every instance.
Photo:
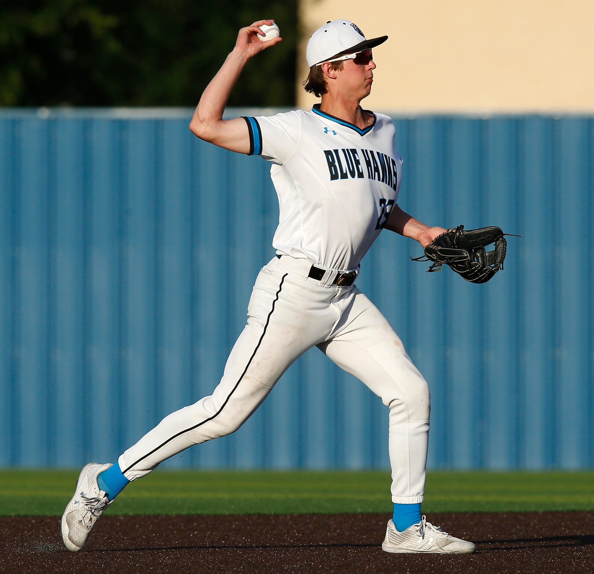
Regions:
[[[365, 106], [400, 112], [593, 112], [594, 0], [301, 0], [305, 46], [328, 20], [367, 38], [377, 70]], [[282, 24], [281, 24], [282, 26]]]

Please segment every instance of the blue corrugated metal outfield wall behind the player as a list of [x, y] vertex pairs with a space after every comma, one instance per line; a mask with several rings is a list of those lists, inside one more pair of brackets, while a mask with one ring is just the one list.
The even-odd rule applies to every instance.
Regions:
[[[278, 206], [268, 164], [190, 113], [0, 114], [1, 466], [113, 461], [216, 385]], [[388, 232], [364, 259], [431, 386], [429, 464], [593, 467], [594, 120], [394, 123], [405, 210], [523, 235], [484, 286]], [[238, 433], [166, 464], [387, 467], [387, 409], [312, 350]]]

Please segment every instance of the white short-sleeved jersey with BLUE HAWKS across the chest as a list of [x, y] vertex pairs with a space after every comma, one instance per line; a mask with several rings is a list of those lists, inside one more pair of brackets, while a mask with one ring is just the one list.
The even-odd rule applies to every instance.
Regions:
[[245, 118], [249, 154], [273, 163], [279, 255], [355, 269], [380, 234], [398, 198], [402, 157], [391, 118], [374, 116], [359, 129], [316, 104], [311, 112]]

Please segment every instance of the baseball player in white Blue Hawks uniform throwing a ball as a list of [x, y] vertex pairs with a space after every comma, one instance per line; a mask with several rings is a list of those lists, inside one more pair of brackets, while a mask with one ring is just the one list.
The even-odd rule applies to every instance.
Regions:
[[469, 553], [421, 516], [429, 433], [429, 389], [400, 338], [356, 287], [359, 263], [388, 229], [424, 247], [442, 227], [428, 227], [397, 205], [402, 158], [391, 119], [359, 105], [369, 95], [372, 48], [348, 20], [334, 20], [307, 45], [305, 89], [321, 96], [309, 111], [223, 120], [229, 94], [250, 58], [276, 45], [254, 22], [202, 94], [190, 129], [199, 138], [270, 162], [279, 196], [276, 256], [261, 269], [248, 321], [209, 397], [165, 417], [115, 464], [87, 464], [62, 516], [62, 537], [80, 550], [116, 495], [189, 446], [235, 432], [305, 351], [320, 351], [367, 385], [389, 407], [394, 516], [387, 552]]

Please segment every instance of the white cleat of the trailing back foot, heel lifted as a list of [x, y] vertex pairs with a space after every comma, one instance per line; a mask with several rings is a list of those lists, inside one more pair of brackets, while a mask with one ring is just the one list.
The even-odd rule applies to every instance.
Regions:
[[86, 543], [103, 510], [113, 502], [99, 489], [97, 476], [111, 464], [90, 462], [83, 467], [77, 480], [74, 496], [62, 515], [62, 540], [72, 552], [77, 552]]

